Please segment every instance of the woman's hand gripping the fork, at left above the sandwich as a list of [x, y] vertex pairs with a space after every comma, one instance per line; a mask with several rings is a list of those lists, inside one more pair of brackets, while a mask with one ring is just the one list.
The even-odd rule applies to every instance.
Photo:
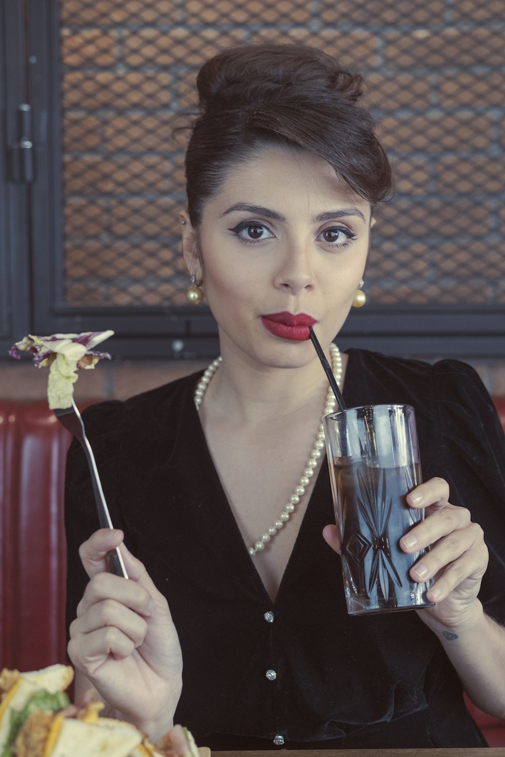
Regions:
[[[171, 727], [182, 690], [181, 647], [167, 600], [122, 542], [122, 531], [103, 528], [79, 548], [90, 581], [68, 654], [106, 702], [157, 738]], [[107, 572], [115, 547], [129, 580]]]

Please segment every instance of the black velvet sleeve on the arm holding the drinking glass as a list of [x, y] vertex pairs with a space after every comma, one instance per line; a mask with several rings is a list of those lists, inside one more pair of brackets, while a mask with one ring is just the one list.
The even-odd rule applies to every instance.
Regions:
[[434, 366], [435, 403], [450, 501], [467, 507], [484, 531], [489, 564], [479, 598], [505, 625], [505, 435], [493, 400], [466, 363]]

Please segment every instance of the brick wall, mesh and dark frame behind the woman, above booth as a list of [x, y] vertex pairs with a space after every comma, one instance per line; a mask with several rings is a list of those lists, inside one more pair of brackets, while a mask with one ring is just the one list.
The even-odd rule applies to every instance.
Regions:
[[503, 0], [0, 0], [0, 397], [45, 396], [26, 333], [114, 329], [76, 397], [128, 397], [218, 351], [186, 304], [177, 210], [195, 75], [303, 42], [366, 78], [397, 176], [339, 346], [472, 363], [505, 394]]

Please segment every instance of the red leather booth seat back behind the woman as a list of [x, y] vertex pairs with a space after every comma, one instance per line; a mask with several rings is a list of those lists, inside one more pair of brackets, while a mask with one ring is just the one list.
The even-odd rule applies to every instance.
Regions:
[[[505, 397], [495, 403], [505, 428]], [[69, 444], [45, 401], [0, 400], [0, 669], [34, 670], [65, 659]], [[505, 746], [505, 721], [467, 705], [489, 745]]]

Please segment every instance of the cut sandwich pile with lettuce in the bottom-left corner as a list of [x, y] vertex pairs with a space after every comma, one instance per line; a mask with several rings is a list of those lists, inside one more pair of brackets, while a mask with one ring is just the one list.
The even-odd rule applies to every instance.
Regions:
[[72, 679], [66, 665], [2, 671], [0, 757], [76, 757], [83, 745], [86, 757], [210, 757], [180, 725], [154, 745], [131, 723], [101, 718], [103, 702], [70, 704], [64, 689]]

